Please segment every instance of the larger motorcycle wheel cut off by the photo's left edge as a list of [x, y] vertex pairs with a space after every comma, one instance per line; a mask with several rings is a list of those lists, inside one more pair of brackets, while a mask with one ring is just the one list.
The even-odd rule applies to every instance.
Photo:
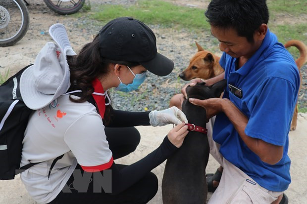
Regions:
[[29, 28], [29, 12], [23, 0], [0, 1], [0, 46], [20, 41]]

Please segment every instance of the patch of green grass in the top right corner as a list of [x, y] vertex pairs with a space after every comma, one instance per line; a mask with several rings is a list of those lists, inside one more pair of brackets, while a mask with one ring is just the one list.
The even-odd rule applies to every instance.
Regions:
[[307, 0], [267, 0], [270, 12], [289, 13], [299, 16], [307, 14]]

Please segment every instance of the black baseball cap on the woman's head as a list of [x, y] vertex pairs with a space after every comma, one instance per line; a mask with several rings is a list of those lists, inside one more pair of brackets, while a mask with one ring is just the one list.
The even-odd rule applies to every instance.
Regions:
[[152, 29], [132, 17], [111, 20], [99, 32], [100, 55], [118, 61], [138, 62], [158, 76], [170, 74], [174, 62], [156, 49]]

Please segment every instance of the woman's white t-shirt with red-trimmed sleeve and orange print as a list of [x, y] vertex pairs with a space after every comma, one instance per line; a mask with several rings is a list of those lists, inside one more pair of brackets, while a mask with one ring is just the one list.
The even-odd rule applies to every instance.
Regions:
[[[62, 154], [48, 179], [51, 163]], [[77, 163], [89, 171], [109, 168], [112, 152], [96, 107], [87, 101], [74, 103], [69, 95], [63, 95], [34, 111], [25, 131], [20, 165], [30, 162], [42, 163], [22, 172], [20, 178], [30, 196], [42, 204], [55, 199]]]

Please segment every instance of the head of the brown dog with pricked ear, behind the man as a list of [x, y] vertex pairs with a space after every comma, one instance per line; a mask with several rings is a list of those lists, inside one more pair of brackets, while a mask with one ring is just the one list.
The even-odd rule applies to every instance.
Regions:
[[205, 50], [197, 42], [195, 43], [198, 52], [192, 57], [188, 68], [179, 77], [185, 81], [190, 81], [195, 78], [206, 80], [224, 72], [224, 69], [219, 65], [220, 57]]

